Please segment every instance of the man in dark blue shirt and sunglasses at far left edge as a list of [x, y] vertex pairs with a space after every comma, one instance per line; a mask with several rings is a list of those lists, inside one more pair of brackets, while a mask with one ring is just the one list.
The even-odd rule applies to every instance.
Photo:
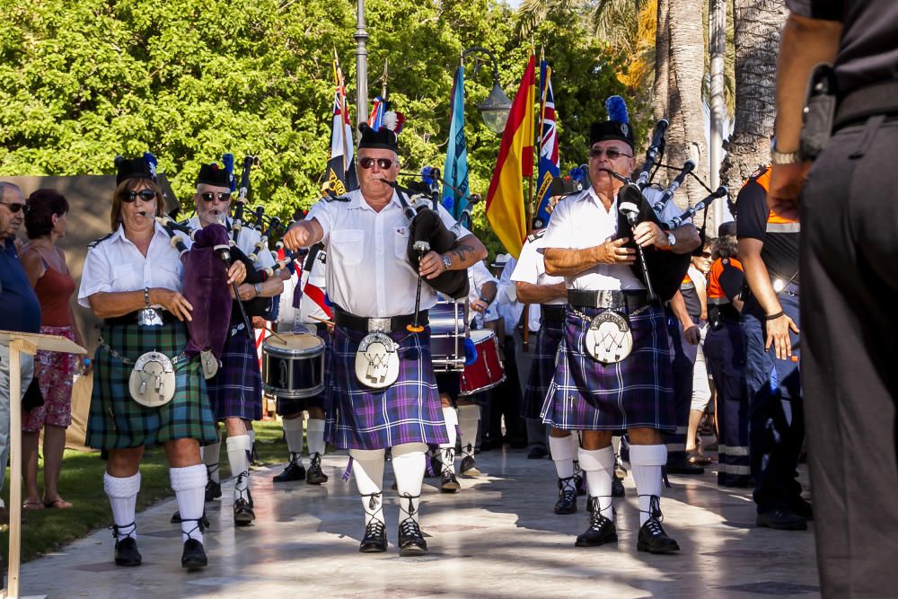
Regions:
[[[12, 183], [0, 181], [0, 330], [36, 333], [40, 332], [40, 304], [19, 261], [14, 243], [15, 233], [22, 226], [24, 216], [22, 190]], [[25, 354], [21, 357], [24, 396], [34, 374], [34, 357]], [[3, 488], [9, 458], [9, 406], [9, 345], [0, 343], [0, 488]], [[9, 520], [2, 498], [0, 520]]]

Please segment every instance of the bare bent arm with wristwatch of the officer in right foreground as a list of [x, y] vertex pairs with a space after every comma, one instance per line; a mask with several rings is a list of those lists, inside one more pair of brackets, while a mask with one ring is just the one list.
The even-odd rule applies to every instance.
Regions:
[[832, 63], [839, 50], [841, 23], [789, 15], [779, 39], [777, 59], [777, 150], [797, 152], [801, 113], [811, 69]]

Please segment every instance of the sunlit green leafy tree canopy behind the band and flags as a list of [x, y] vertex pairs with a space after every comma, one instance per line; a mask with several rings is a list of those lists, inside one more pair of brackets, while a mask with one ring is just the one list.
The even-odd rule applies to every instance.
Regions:
[[[389, 59], [389, 99], [409, 119], [400, 136], [409, 169], [443, 164], [453, 71], [464, 48], [493, 50], [512, 96], [532, 40], [544, 46], [562, 168], [584, 162], [589, 124], [605, 119], [604, 98], [626, 95], [622, 57], [577, 11], [548, 15], [522, 40], [522, 17], [494, 0], [365, 5], [369, 95], [379, 92], [376, 79]], [[354, 107], [355, 2], [0, 0], [0, 7], [0, 174], [109, 174], [116, 154], [149, 150], [184, 201], [199, 163], [232, 152], [238, 161], [260, 156], [253, 203], [269, 213], [288, 217], [318, 198], [334, 50]], [[489, 66], [477, 75], [466, 69], [471, 189], [483, 195], [499, 139], [477, 105], [491, 85]], [[641, 116], [638, 135], [647, 124]], [[487, 227], [482, 206], [475, 225]]]

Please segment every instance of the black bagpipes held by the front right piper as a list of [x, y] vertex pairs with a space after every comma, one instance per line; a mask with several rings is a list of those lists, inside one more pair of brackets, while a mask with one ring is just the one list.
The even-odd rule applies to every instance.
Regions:
[[[629, 237], [627, 247], [635, 248], [638, 256], [639, 268], [634, 268], [634, 274], [645, 284], [650, 300], [659, 298], [667, 301], [680, 288], [683, 277], [689, 270], [691, 254], [678, 254], [674, 251], [659, 250], [655, 246], [640, 247], [633, 241], [633, 229], [641, 222], [652, 222], [660, 226], [662, 230], [669, 231], [682, 225], [686, 220], [695, 216], [704, 207], [708, 206], [716, 198], [726, 196], [726, 187], [719, 187], [712, 191], [708, 197], [703, 198], [694, 207], [687, 208], [680, 216], [669, 221], [662, 221], [666, 203], [674, 197], [674, 192], [682, 185], [686, 177], [695, 169], [695, 163], [687, 160], [674, 177], [674, 181], [663, 190], [661, 198], [653, 205], [649, 202], [643, 191], [651, 184], [652, 170], [666, 166], [660, 163], [664, 154], [665, 132], [668, 127], [667, 119], [657, 121], [655, 131], [652, 134], [651, 144], [646, 151], [646, 160], [638, 173], [636, 181], [630, 180], [616, 172], [611, 172], [612, 177], [623, 182], [623, 187], [618, 191], [618, 236]], [[668, 167], [669, 168], [669, 167]], [[703, 185], [703, 183], [702, 183]]]

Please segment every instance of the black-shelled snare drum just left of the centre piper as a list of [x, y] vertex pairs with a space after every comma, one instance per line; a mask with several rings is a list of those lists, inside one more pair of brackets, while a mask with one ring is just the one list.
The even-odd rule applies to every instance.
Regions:
[[289, 398], [324, 391], [324, 341], [306, 333], [278, 333], [278, 337], [271, 335], [262, 342], [262, 389]]

